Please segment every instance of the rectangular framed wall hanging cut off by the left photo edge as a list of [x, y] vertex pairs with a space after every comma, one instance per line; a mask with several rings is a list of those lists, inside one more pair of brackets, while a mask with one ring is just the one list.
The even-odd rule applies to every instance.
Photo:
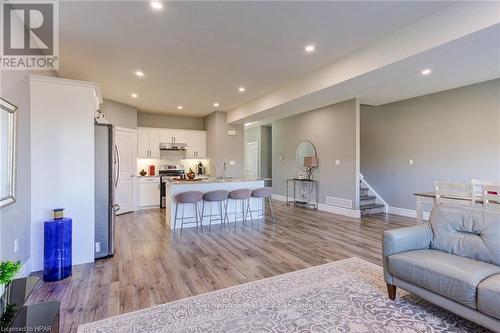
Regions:
[[0, 98], [0, 207], [16, 201], [16, 110]]

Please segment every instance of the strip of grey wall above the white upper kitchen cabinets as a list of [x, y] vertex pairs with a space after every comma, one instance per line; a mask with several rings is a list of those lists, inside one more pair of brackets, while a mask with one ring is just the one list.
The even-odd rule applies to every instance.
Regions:
[[137, 114], [137, 126], [203, 130], [203, 118], [139, 112]]

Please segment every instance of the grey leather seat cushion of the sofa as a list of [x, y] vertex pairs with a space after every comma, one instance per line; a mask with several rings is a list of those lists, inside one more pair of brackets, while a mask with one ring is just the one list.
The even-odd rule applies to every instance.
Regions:
[[417, 250], [389, 256], [395, 277], [476, 309], [476, 288], [500, 273], [500, 267], [435, 250]]

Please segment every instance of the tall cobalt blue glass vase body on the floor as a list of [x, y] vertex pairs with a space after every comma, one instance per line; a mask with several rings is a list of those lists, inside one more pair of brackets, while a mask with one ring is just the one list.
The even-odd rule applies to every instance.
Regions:
[[71, 229], [72, 220], [67, 217], [44, 222], [44, 281], [59, 281], [71, 275]]

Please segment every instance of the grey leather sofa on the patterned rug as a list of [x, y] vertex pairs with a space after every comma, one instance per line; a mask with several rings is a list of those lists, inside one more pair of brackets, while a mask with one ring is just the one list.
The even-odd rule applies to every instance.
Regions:
[[384, 232], [389, 298], [405, 289], [500, 332], [500, 211], [438, 205], [429, 223]]

